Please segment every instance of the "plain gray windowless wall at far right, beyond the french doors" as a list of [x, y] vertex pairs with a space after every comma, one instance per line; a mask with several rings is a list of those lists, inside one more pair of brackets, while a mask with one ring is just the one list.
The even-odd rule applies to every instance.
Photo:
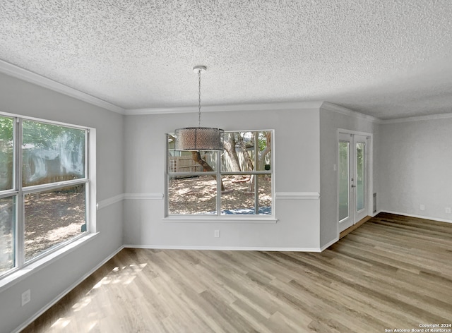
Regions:
[[379, 210], [452, 222], [452, 117], [383, 123], [380, 137]]

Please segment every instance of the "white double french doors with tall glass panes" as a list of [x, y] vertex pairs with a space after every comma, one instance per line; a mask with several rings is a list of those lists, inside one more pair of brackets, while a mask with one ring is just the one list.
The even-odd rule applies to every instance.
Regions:
[[338, 217], [339, 232], [367, 216], [367, 137], [339, 133]]

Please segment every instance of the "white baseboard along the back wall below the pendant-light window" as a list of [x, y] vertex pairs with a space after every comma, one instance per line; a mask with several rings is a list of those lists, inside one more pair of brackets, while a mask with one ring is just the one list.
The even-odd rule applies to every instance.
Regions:
[[254, 246], [162, 246], [126, 244], [124, 248], [149, 248], [159, 250], [220, 250], [220, 251], [280, 251], [280, 252], [321, 252], [320, 248], [263, 248]]

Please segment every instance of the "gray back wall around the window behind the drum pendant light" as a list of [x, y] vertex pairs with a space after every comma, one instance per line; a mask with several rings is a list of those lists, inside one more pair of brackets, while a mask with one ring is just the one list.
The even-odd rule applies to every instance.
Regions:
[[[126, 193], [165, 193], [166, 137], [196, 126], [197, 115], [126, 116]], [[319, 248], [319, 200], [278, 193], [320, 190], [319, 109], [205, 112], [203, 126], [275, 130], [275, 213], [278, 223], [167, 222], [165, 200], [126, 200], [124, 242], [167, 248]], [[220, 238], [213, 231], [220, 229]]]

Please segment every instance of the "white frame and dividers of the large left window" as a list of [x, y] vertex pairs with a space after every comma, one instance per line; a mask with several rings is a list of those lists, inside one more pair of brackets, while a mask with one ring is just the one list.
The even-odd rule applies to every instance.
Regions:
[[[13, 222], [13, 239], [14, 239], [14, 267], [11, 270], [0, 273], [0, 291], [7, 288], [11, 282], [20, 280], [33, 270], [40, 269], [49, 264], [52, 260], [59, 258], [65, 253], [81, 246], [93, 236], [96, 232], [96, 173], [95, 173], [95, 152], [96, 152], [96, 130], [95, 128], [88, 128], [85, 126], [78, 126], [69, 123], [62, 123], [58, 121], [49, 121], [45, 119], [38, 119], [28, 116], [20, 116], [18, 114], [9, 114], [0, 112], [0, 116], [13, 119], [13, 188], [10, 190], [0, 191], [0, 198], [16, 197], [15, 214], [16, 220]], [[47, 123], [49, 125], [64, 126], [68, 128], [76, 128], [85, 131], [85, 177], [73, 179], [69, 181], [59, 181], [55, 183], [47, 183], [36, 186], [22, 186], [22, 121], [36, 121], [40, 123]], [[76, 186], [85, 184], [85, 223], [86, 231], [78, 236], [75, 236], [67, 241], [63, 241], [52, 248], [44, 250], [35, 258], [25, 262], [24, 253], [24, 217], [25, 195], [30, 193], [40, 193], [46, 190], [54, 190], [64, 188], [66, 186]], [[25, 268], [25, 270], [24, 270]]]

